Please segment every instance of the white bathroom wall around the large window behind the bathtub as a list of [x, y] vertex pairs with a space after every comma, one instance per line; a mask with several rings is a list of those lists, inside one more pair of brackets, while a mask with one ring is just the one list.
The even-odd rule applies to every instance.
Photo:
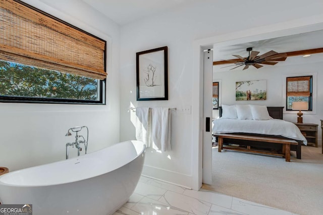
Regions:
[[109, 75], [106, 105], [0, 103], [0, 166], [10, 171], [65, 159], [65, 134], [77, 125], [89, 127], [88, 152], [119, 142], [119, 25], [82, 1], [24, 2], [106, 40]]

